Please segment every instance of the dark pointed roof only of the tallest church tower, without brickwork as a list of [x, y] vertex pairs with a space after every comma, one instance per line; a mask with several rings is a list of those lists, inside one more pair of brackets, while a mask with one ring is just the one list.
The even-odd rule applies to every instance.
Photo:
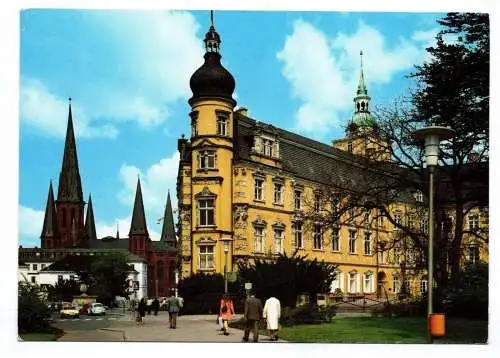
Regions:
[[66, 141], [64, 143], [62, 168], [59, 175], [57, 201], [83, 203], [82, 182], [80, 179], [80, 171], [78, 169], [75, 132], [73, 130], [71, 98], [69, 99], [68, 126], [66, 128]]

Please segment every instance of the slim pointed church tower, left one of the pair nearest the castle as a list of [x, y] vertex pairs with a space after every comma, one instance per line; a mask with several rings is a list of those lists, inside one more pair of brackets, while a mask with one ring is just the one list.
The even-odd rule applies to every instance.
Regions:
[[144, 202], [142, 200], [141, 180], [137, 178], [137, 189], [135, 192], [134, 210], [132, 212], [132, 222], [130, 224], [129, 251], [135, 255], [147, 258], [149, 250], [149, 233], [146, 225], [146, 214], [144, 212]]

